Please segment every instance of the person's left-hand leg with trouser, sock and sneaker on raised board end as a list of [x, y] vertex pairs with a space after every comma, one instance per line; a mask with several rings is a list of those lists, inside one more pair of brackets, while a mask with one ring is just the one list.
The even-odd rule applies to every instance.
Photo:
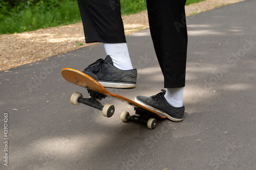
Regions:
[[120, 0], [77, 0], [86, 42], [103, 42], [106, 54], [83, 72], [104, 87], [135, 88], [133, 69], [125, 40]]

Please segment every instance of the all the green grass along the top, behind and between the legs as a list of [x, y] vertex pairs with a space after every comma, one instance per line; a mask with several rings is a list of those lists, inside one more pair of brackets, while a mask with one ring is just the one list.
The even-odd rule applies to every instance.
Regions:
[[[205, 0], [187, 0], [186, 5], [201, 1]], [[121, 0], [120, 3], [122, 15], [146, 10], [146, 0]], [[0, 34], [33, 31], [78, 21], [81, 17], [76, 0], [44, 0], [37, 3], [28, 0], [15, 7], [10, 7], [8, 1], [0, 0]]]

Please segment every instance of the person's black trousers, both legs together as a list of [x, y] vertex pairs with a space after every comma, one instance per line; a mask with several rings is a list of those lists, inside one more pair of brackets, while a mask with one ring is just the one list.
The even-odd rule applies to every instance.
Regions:
[[[77, 0], [86, 42], [126, 42], [120, 0]], [[147, 0], [150, 32], [165, 88], [185, 86], [186, 0]]]

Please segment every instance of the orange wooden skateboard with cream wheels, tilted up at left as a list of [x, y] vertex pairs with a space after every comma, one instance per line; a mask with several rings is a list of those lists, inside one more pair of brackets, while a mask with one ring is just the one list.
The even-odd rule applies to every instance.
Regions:
[[[81, 71], [78, 71], [73, 68], [63, 68], [61, 70], [61, 75], [66, 81], [72, 84], [84, 87], [88, 90], [88, 93], [90, 95], [89, 98], [83, 98], [81, 93], [74, 92], [70, 98], [70, 102], [73, 105], [79, 105], [80, 103], [82, 103], [82, 104], [91, 106], [93, 108], [96, 108], [98, 110], [102, 110], [102, 114], [105, 117], [111, 117], [115, 112], [114, 105], [105, 104], [103, 106], [100, 103], [102, 99], [105, 99], [107, 96], [110, 96], [113, 99], [123, 101], [125, 104], [132, 105], [134, 107], [135, 115], [130, 116], [130, 113], [127, 111], [123, 111], [121, 113], [120, 118], [123, 122], [132, 120], [131, 122], [144, 123], [147, 125], [149, 129], [155, 129], [157, 125], [157, 120], [156, 118], [153, 118], [153, 117], [166, 118], [166, 116], [161, 113], [148, 109], [130, 99], [124, 98], [121, 95], [109, 92], [96, 80], [94, 80], [93, 78], [84, 74]], [[152, 117], [145, 118], [145, 117], [148, 117], [148, 115]]]

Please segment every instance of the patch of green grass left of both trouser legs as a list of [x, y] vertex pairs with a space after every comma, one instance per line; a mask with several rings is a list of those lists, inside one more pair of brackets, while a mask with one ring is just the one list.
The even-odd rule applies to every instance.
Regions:
[[76, 1], [40, 1], [32, 6], [27, 3], [9, 11], [1, 11], [0, 34], [20, 33], [41, 28], [69, 25], [81, 21]]

